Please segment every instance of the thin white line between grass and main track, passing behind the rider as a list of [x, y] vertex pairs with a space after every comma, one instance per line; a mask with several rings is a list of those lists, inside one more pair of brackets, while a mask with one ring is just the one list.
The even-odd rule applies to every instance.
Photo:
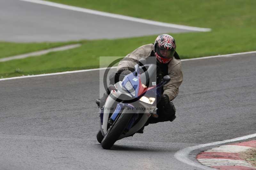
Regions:
[[[214, 55], [214, 56], [191, 58], [191, 59], [183, 59], [181, 61], [201, 60], [201, 59], [217, 58], [217, 57], [233, 57], [233, 56], [236, 56], [236, 55], [254, 54], [254, 53], [256, 53], [256, 51], [249, 51], [249, 52], [243, 52], [243, 53], [234, 53], [234, 54], [225, 54], [225, 55]], [[112, 67], [112, 68], [115, 69], [116, 67]], [[0, 81], [19, 79], [19, 78], [30, 78], [30, 77], [41, 77], [41, 76], [52, 76], [52, 75], [60, 75], [60, 74], [79, 73], [79, 72], [87, 72], [87, 71], [97, 71], [97, 70], [104, 70], [104, 69], [106, 69], [106, 67], [105, 68], [98, 68], [98, 69], [65, 71], [65, 72], [58, 72], [58, 73], [38, 74], [38, 75], [31, 75], [31, 76], [12, 77], [12, 78], [0, 78]]]

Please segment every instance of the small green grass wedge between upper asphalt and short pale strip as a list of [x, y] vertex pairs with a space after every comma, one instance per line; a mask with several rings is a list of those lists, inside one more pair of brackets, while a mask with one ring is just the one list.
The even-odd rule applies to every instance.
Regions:
[[0, 41], [0, 58], [72, 44], [72, 42], [16, 43]]

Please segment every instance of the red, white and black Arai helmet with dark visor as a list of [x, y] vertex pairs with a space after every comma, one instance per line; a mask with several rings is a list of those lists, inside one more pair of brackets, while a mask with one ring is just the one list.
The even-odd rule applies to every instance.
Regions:
[[161, 34], [155, 40], [154, 52], [160, 63], [168, 63], [172, 60], [176, 50], [175, 40], [171, 35]]

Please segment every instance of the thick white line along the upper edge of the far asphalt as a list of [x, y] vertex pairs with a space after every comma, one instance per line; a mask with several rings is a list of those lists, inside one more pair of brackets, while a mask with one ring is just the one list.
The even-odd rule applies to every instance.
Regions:
[[152, 20], [148, 20], [148, 19], [134, 18], [134, 17], [128, 17], [128, 16], [124, 16], [124, 15], [119, 15], [119, 14], [112, 14], [112, 13], [108, 13], [108, 12], [90, 10], [90, 9], [86, 9], [86, 8], [80, 8], [80, 7], [64, 5], [64, 4], [58, 4], [58, 3], [43, 1], [43, 0], [20, 0], [20, 1], [26, 1], [26, 2], [31, 2], [31, 3], [36, 3], [36, 4], [43, 4], [43, 5], [53, 6], [53, 7], [72, 10], [72, 11], [85, 12], [85, 13], [104, 16], [104, 17], [124, 19], [124, 20], [128, 20], [128, 21], [140, 22], [140, 23], [156, 25], [156, 26], [164, 26], [164, 27], [170, 27], [170, 28], [178, 28], [178, 29], [183, 29], [183, 30], [201, 31], [201, 32], [211, 31], [210, 28], [199, 28], [199, 27], [193, 27], [193, 26], [169, 24], [169, 23], [164, 23], [164, 22], [152, 21]]

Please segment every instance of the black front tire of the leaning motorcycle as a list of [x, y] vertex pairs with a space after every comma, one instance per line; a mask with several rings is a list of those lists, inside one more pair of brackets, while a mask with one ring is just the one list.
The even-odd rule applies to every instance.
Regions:
[[124, 129], [130, 122], [133, 114], [126, 110], [117, 118], [116, 122], [108, 129], [107, 134], [104, 136], [101, 146], [104, 149], [110, 149], [117, 141], [119, 136], [123, 133]]

